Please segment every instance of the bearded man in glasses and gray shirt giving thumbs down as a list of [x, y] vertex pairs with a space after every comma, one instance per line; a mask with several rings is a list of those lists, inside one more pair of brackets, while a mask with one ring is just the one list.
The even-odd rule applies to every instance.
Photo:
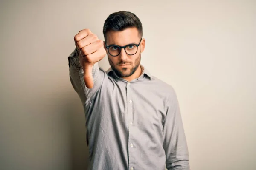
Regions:
[[[74, 37], [70, 80], [83, 103], [89, 170], [189, 170], [189, 153], [172, 86], [140, 65], [142, 24], [111, 14], [102, 42], [89, 29]], [[108, 55], [111, 68], [99, 68]]]

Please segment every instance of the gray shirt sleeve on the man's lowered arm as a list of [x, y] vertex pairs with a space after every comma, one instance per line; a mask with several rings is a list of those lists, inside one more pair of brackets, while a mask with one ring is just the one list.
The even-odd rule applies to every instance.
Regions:
[[180, 108], [174, 89], [167, 99], [167, 112], [163, 121], [166, 168], [168, 170], [190, 170], [189, 152], [183, 130]]

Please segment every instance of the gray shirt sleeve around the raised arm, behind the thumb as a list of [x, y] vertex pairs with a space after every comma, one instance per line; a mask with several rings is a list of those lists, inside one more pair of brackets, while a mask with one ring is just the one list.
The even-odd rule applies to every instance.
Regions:
[[79, 62], [78, 50], [75, 49], [68, 57], [70, 81], [74, 90], [79, 95], [81, 102], [91, 103], [96, 93], [101, 88], [105, 72], [99, 68], [98, 62], [93, 65], [93, 88], [87, 88], [84, 82], [84, 70]]

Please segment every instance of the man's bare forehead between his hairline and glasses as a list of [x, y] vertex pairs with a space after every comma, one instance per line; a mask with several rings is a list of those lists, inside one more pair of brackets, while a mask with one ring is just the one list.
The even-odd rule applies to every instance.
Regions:
[[137, 44], [140, 41], [139, 31], [137, 28], [126, 28], [123, 31], [108, 31], [106, 34], [107, 45], [115, 44], [124, 46], [127, 44]]

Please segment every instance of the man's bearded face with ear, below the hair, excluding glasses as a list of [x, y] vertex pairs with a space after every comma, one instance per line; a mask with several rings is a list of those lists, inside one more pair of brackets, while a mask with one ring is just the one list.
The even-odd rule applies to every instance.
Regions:
[[[140, 39], [141, 37], [137, 28], [127, 28], [123, 31], [108, 31], [106, 35], [105, 47], [109, 45], [125, 46], [128, 44], [139, 44]], [[128, 52], [130, 48], [137, 47], [128, 46], [126, 51]], [[138, 50], [134, 55], [128, 55], [125, 52], [125, 49], [122, 48], [120, 54], [113, 57], [111, 54], [109, 54], [108, 49], [106, 49], [108, 61], [113, 71], [115, 71], [119, 77], [130, 77], [140, 66], [140, 53], [144, 51], [144, 48], [145, 40], [142, 39], [140, 46], [138, 46]], [[112, 48], [112, 50], [115, 49], [116, 47]]]

